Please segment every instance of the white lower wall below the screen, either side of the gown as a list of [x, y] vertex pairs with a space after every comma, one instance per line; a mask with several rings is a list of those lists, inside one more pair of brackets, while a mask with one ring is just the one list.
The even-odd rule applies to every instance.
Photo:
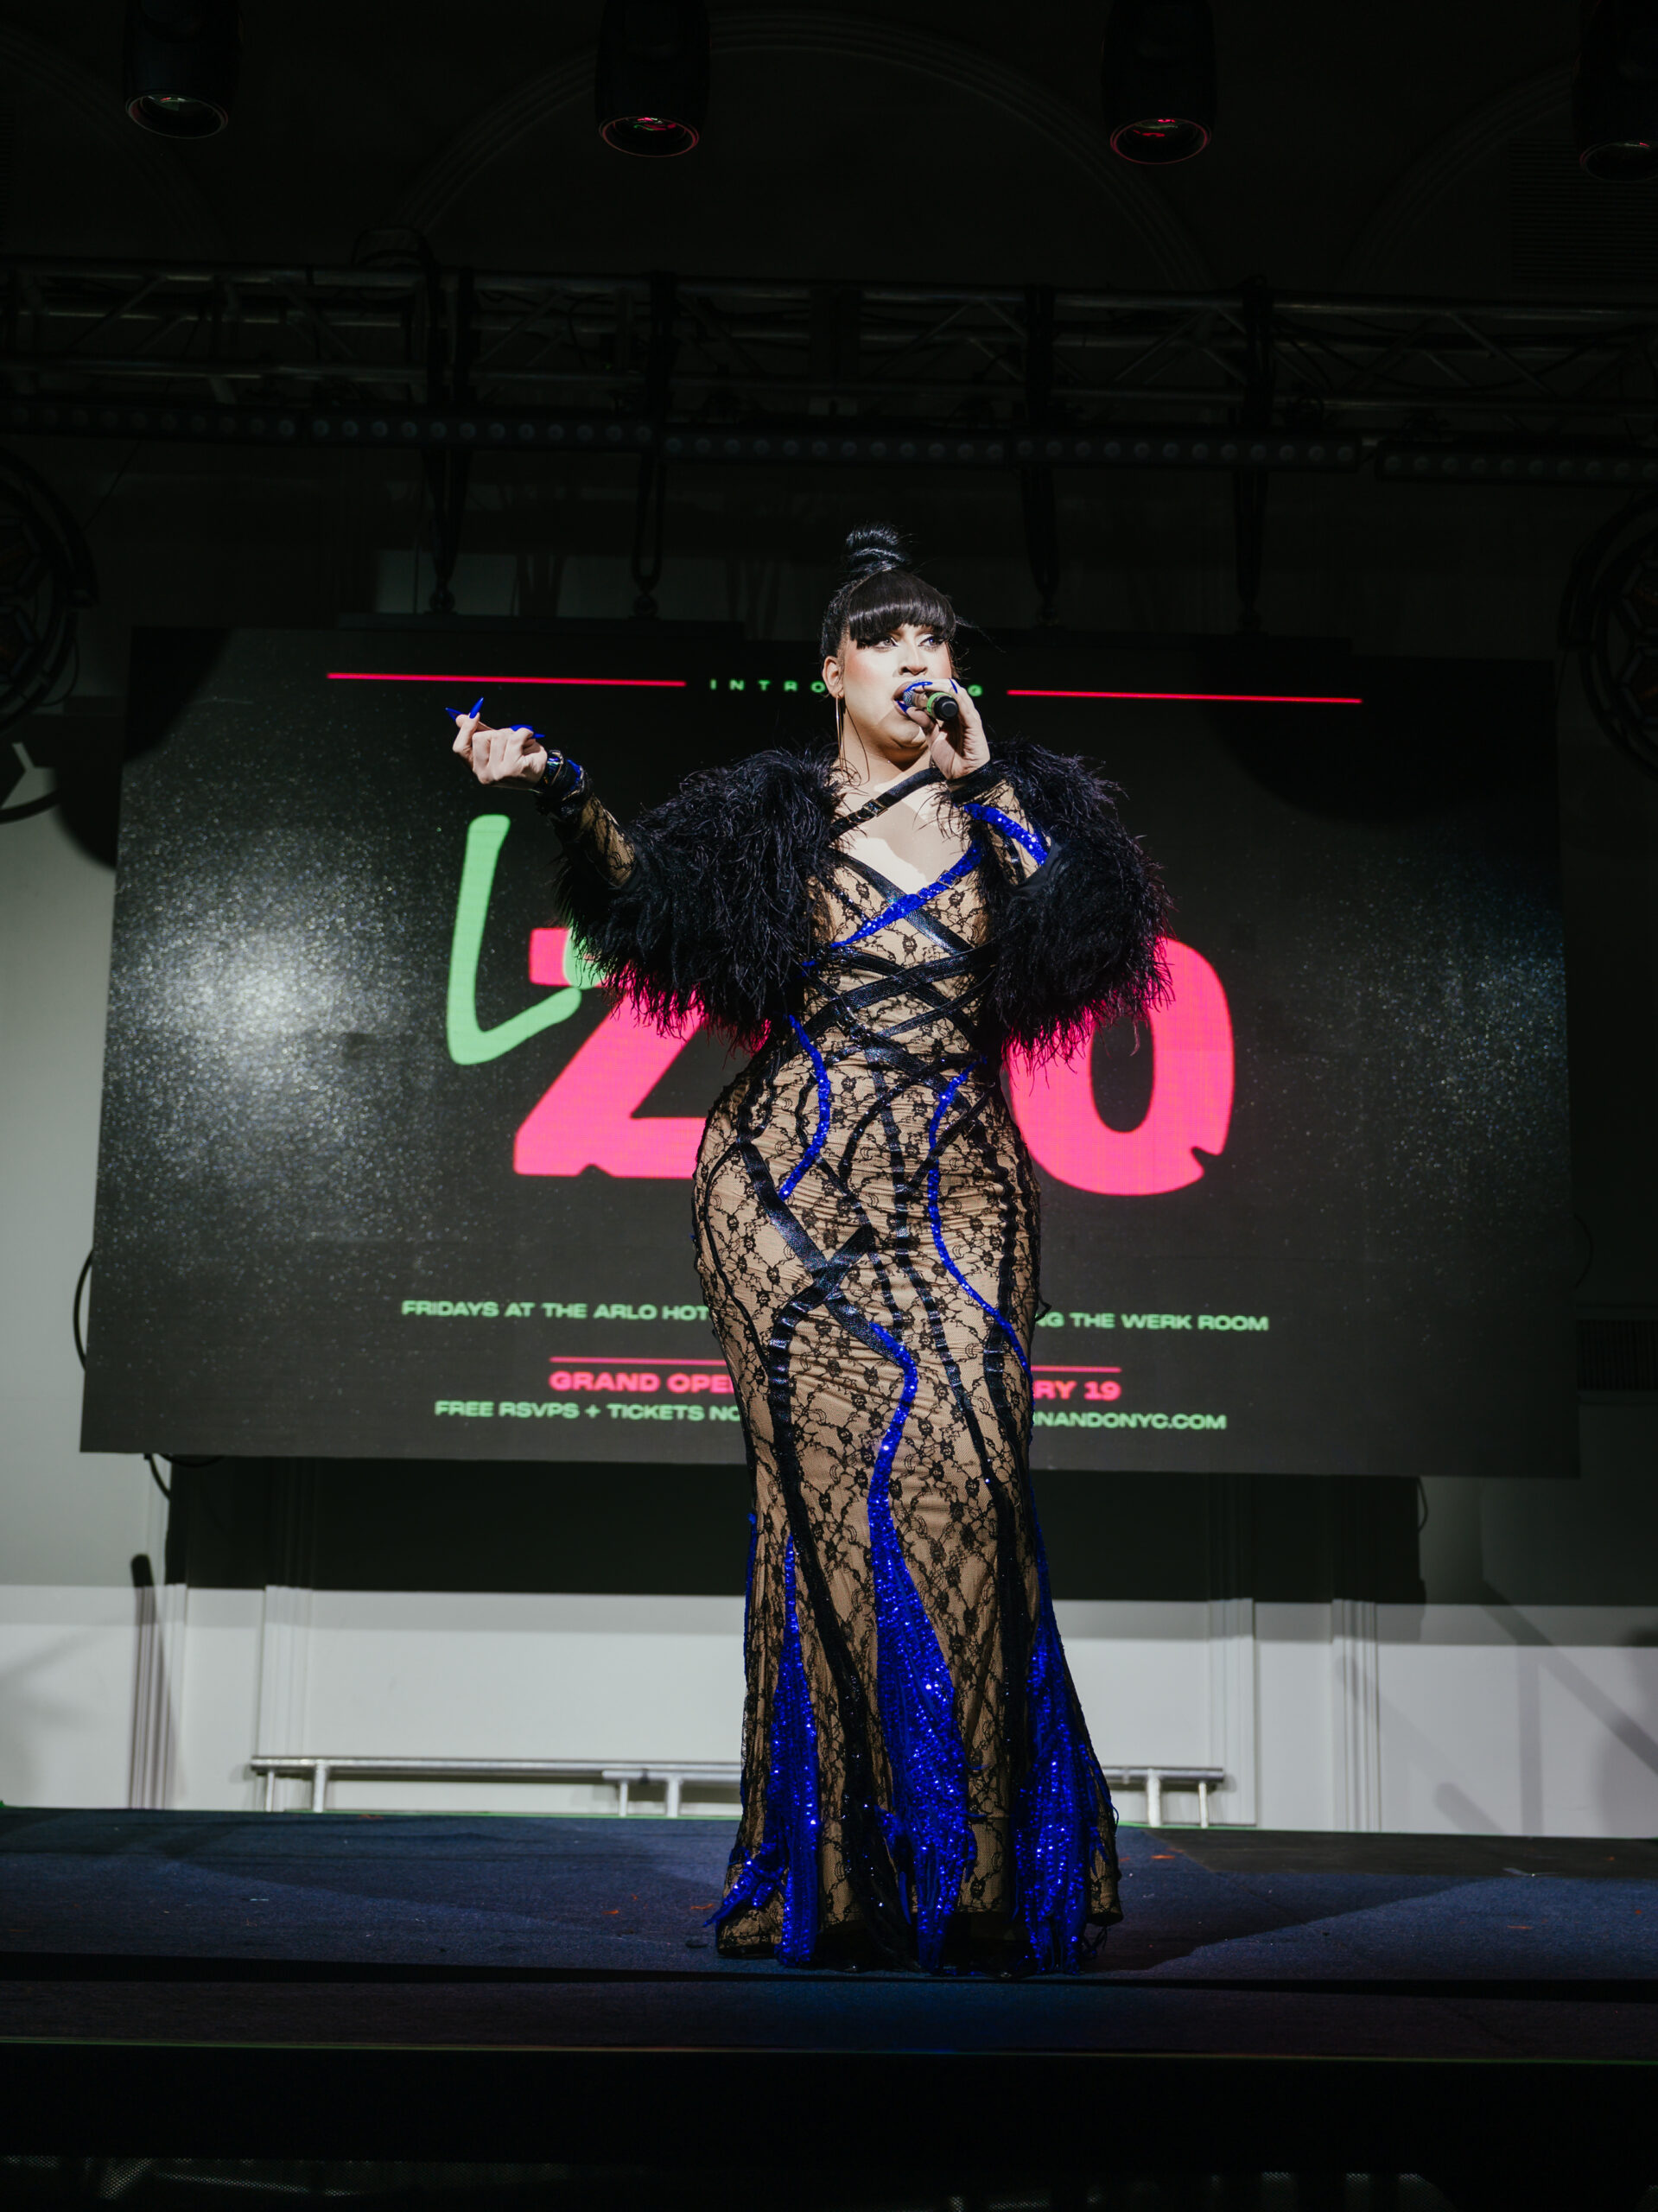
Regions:
[[[177, 1621], [168, 1626], [168, 1608]], [[1061, 1604], [1094, 1745], [1112, 1763], [1225, 1765], [1218, 1818], [1430, 1834], [1645, 1836], [1658, 1827], [1658, 1608], [1375, 1606], [1333, 1644], [1322, 1604], [1253, 1606], [1218, 1697], [1203, 1604]], [[135, 1597], [0, 1588], [0, 1798], [252, 1807], [254, 1750], [502, 1759], [734, 1759], [743, 1608], [727, 1597], [161, 1593], [139, 1681]], [[1349, 1624], [1351, 1628], [1351, 1624]], [[1229, 1652], [1236, 1661], [1236, 1652]], [[1349, 1661], [1337, 1663], [1337, 1657]], [[287, 1785], [285, 1803], [298, 1803]], [[608, 1812], [597, 1785], [336, 1783], [363, 1809]], [[696, 1805], [730, 1809], [730, 1794]], [[1123, 1814], [1145, 1803], [1123, 1792]], [[1167, 1818], [1194, 1818], [1169, 1796]]]

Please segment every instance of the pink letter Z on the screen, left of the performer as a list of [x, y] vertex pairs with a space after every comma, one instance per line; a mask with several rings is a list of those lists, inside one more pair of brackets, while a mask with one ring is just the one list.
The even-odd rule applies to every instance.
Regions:
[[637, 1119], [683, 1048], [685, 1037], [659, 1035], [626, 1000], [612, 1006], [520, 1128], [513, 1146], [517, 1175], [604, 1168], [606, 1175], [690, 1181], [703, 1124], [694, 1115]]

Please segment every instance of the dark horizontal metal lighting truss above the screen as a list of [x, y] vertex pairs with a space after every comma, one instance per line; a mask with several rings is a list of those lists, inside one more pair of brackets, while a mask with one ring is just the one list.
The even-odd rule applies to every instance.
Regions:
[[1658, 307], [18, 259], [0, 429], [1658, 482]]

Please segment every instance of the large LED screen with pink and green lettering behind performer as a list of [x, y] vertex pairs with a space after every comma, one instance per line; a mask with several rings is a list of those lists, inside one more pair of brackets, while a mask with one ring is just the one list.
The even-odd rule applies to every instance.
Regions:
[[[584, 971], [484, 692], [630, 814], [827, 726], [807, 646], [150, 633], [124, 779], [86, 1449], [741, 1460], [688, 1177], [734, 1071]], [[979, 646], [1105, 765], [1174, 995], [1008, 1071], [1037, 1464], [1561, 1473], [1552, 706], [1530, 664]]]

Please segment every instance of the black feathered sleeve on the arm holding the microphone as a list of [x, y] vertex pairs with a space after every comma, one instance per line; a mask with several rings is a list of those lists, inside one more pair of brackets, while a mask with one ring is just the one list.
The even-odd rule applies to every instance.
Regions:
[[951, 794], [988, 849], [993, 1011], [1010, 1051], [1048, 1060], [1094, 1024], [1145, 1015], [1165, 989], [1167, 898], [1083, 761], [997, 745]]

